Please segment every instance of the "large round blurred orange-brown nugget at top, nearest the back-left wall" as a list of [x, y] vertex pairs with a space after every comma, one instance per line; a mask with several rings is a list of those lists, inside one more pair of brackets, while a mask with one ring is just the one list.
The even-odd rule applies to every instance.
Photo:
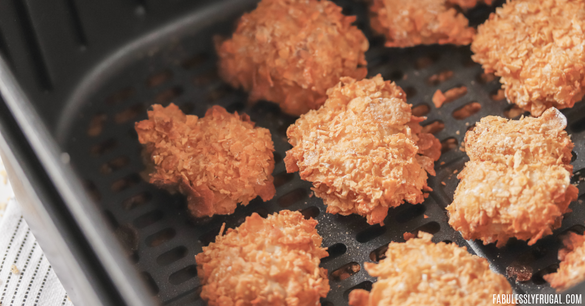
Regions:
[[288, 114], [319, 108], [340, 77], [367, 74], [369, 42], [341, 10], [326, 0], [262, 0], [218, 44], [219, 74]]

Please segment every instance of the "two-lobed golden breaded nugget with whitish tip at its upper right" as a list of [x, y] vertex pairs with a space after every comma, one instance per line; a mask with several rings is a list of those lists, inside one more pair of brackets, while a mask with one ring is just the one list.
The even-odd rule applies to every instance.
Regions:
[[447, 207], [449, 224], [465, 239], [503, 246], [510, 237], [532, 245], [559, 228], [578, 190], [570, 184], [573, 143], [565, 116], [482, 118], [465, 135], [470, 161]]

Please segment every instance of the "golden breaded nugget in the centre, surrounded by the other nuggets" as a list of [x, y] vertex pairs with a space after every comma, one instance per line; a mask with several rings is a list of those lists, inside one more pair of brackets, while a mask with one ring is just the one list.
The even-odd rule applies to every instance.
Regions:
[[[315, 195], [332, 214], [360, 214], [382, 223], [389, 207], [424, 200], [426, 172], [441, 156], [441, 143], [421, 133], [406, 95], [378, 74], [342, 78], [329, 88], [318, 111], [302, 115], [287, 130], [293, 146], [284, 162], [313, 182]], [[426, 170], [426, 172], [425, 172]]]

